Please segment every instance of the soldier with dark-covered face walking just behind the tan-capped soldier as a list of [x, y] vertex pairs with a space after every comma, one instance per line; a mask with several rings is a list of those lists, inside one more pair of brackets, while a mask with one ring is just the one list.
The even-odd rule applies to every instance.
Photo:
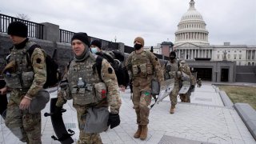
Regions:
[[176, 59], [176, 53], [170, 52], [170, 61], [164, 66], [165, 79], [174, 78], [174, 89], [170, 93], [170, 114], [174, 114], [174, 109], [177, 104], [178, 91], [180, 90], [181, 72], [179, 71], [178, 60]]

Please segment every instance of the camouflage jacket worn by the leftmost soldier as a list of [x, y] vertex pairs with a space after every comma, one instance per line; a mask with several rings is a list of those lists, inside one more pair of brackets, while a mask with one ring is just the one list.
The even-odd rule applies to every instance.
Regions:
[[[33, 79], [27, 82], [29, 86], [22, 86], [21, 89], [12, 89], [18, 97], [27, 94], [28, 97], [33, 98], [46, 82], [46, 54], [42, 49], [35, 48], [31, 57], [27, 56], [26, 50], [28, 50], [32, 44], [34, 44], [34, 42], [30, 42], [27, 38], [24, 42], [18, 44], [18, 47], [14, 46], [10, 50], [9, 63], [3, 70], [4, 74], [6, 74], [5, 72], [7, 72], [8, 69], [14, 70], [11, 71], [10, 74], [20, 73], [22, 78], [24, 75], [24, 77], [26, 77], [25, 73], [32, 72]], [[8, 83], [6, 85], [8, 86]]]

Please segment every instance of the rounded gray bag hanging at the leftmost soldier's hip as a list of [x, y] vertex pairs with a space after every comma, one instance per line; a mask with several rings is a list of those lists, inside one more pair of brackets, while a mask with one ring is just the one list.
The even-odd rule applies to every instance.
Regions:
[[50, 100], [50, 94], [47, 90], [42, 89], [38, 91], [38, 95], [32, 98], [29, 107], [30, 114], [39, 113], [42, 109], [46, 107], [46, 103]]

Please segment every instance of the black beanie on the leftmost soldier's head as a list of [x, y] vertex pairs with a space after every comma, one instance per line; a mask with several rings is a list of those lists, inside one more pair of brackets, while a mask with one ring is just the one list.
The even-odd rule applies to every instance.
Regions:
[[27, 26], [23, 22], [11, 22], [8, 26], [7, 34], [26, 38]]

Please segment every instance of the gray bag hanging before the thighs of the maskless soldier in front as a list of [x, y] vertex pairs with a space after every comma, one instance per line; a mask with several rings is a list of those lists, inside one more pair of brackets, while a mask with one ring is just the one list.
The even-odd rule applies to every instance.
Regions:
[[87, 109], [85, 132], [89, 134], [101, 133], [107, 129], [110, 112], [108, 107], [90, 107]]

